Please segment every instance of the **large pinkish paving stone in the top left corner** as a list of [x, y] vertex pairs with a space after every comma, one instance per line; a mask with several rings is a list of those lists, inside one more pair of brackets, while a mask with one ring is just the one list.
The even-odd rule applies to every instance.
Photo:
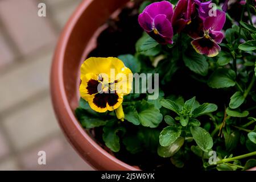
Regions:
[[38, 16], [34, 0], [2, 0], [0, 16], [20, 52], [27, 54], [55, 42], [55, 31], [47, 17]]

